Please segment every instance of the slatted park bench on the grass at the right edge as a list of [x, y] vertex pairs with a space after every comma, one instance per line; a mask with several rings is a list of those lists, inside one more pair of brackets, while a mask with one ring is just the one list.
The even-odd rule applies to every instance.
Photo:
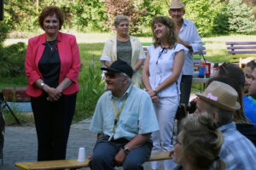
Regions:
[[241, 67], [250, 60], [256, 59], [256, 42], [226, 42], [226, 45], [229, 46], [227, 50], [231, 54], [231, 63], [237, 63]]

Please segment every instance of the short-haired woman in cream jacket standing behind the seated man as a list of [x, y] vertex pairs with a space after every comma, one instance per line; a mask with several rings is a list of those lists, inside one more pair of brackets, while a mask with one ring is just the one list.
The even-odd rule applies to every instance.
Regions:
[[142, 88], [142, 79], [137, 71], [146, 59], [143, 46], [137, 37], [129, 35], [129, 18], [127, 16], [117, 15], [114, 19], [114, 27], [117, 35], [105, 43], [100, 60], [106, 67], [118, 59], [125, 61], [131, 65], [134, 72], [131, 79], [132, 85]]

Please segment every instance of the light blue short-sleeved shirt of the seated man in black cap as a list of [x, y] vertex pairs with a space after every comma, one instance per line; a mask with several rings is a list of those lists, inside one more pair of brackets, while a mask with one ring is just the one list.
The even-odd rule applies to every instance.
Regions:
[[[130, 88], [131, 86], [121, 99], [115, 98], [111, 91], [102, 94], [90, 123], [91, 131], [112, 135], [115, 119], [112, 98], [115, 100], [116, 110], [119, 111]], [[149, 95], [142, 89], [133, 87], [119, 116], [113, 139], [131, 140], [137, 134], [152, 133], [157, 130], [159, 130], [159, 126]]]

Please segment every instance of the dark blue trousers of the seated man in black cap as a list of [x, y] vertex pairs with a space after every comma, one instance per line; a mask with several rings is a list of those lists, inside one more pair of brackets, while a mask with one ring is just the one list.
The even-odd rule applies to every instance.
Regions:
[[[89, 162], [92, 170], [113, 170], [115, 167], [114, 156], [126, 143], [108, 142], [108, 136], [103, 136], [96, 141], [93, 156]], [[133, 150], [125, 157], [124, 170], [143, 169], [143, 163], [148, 161], [152, 149], [152, 141], [148, 141]]]

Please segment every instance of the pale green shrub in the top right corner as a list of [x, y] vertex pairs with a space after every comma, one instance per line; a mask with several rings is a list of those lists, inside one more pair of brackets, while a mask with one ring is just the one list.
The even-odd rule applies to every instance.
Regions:
[[247, 4], [241, 3], [241, 0], [230, 0], [227, 5], [227, 14], [230, 32], [248, 34], [255, 30], [253, 10], [247, 7]]

